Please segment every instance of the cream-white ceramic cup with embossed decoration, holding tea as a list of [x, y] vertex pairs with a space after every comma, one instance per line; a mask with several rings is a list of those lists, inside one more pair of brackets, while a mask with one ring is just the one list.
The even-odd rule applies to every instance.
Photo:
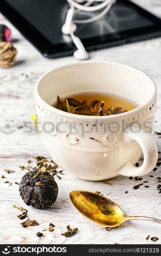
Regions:
[[[126, 113], [96, 117], [51, 106], [57, 95], [79, 92], [112, 93], [139, 106]], [[136, 177], [155, 167], [157, 147], [150, 133], [156, 86], [144, 72], [111, 61], [78, 62], [42, 75], [35, 86], [35, 100], [41, 136], [51, 159], [76, 177], [90, 181], [118, 175]], [[142, 154], [143, 164], [134, 166]]]

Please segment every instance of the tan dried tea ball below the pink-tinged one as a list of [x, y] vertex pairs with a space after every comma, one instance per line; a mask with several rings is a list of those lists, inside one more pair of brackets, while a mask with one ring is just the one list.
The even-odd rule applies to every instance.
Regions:
[[11, 42], [0, 42], [0, 67], [9, 68], [14, 65], [17, 50]]

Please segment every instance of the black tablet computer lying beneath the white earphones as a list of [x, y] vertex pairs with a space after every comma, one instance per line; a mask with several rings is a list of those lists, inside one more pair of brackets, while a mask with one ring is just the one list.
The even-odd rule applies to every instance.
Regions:
[[[48, 58], [75, 51], [70, 36], [61, 31], [68, 8], [66, 0], [0, 0], [4, 16]], [[81, 12], [79, 18], [92, 15]], [[96, 22], [77, 25], [75, 35], [91, 51], [160, 36], [161, 20], [128, 0], [117, 0]]]

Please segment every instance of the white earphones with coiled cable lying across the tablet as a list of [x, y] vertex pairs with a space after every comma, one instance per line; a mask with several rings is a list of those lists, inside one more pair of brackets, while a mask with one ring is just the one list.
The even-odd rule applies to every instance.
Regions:
[[[95, 20], [101, 18], [103, 15], [105, 15], [111, 8], [112, 4], [115, 3], [116, 0], [67, 0], [70, 5], [70, 9], [67, 12], [65, 24], [62, 27], [62, 32], [65, 35], [70, 35], [72, 38], [72, 41], [74, 45], [76, 46], [77, 50], [74, 52], [74, 57], [80, 60], [86, 60], [89, 59], [90, 55], [86, 51], [81, 39], [74, 35], [74, 32], [76, 31], [76, 25], [77, 24], [86, 24], [90, 22], [94, 22]], [[81, 3], [86, 2], [84, 5], [81, 5]], [[101, 2], [101, 4], [97, 4], [94, 6], [90, 6], [93, 2]], [[74, 13], [81, 12], [81, 11], [97, 11], [100, 9], [103, 9], [103, 11], [96, 16], [84, 19], [84, 20], [73, 20]]]

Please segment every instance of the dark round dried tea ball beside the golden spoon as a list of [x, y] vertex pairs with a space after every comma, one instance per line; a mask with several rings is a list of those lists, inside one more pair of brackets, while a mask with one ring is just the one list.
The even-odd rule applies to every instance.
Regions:
[[58, 185], [48, 172], [31, 170], [22, 177], [19, 194], [26, 205], [44, 209], [55, 203]]

